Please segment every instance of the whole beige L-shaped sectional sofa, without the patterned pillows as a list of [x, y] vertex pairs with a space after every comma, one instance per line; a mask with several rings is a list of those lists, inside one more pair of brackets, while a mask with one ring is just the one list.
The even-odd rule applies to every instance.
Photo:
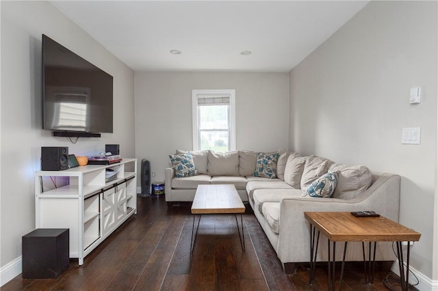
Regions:
[[[339, 165], [318, 156], [283, 152], [276, 155], [275, 178], [263, 178], [254, 176], [259, 157], [255, 152], [191, 154], [197, 175], [177, 178], [175, 169], [167, 168], [166, 201], [192, 201], [198, 184], [234, 184], [242, 200], [253, 208], [287, 273], [293, 270], [294, 263], [309, 262], [309, 223], [305, 221], [305, 211], [374, 210], [398, 221], [400, 176], [394, 174], [372, 173], [363, 165]], [[336, 172], [337, 176], [331, 197], [309, 196], [311, 186], [327, 172]], [[342, 260], [342, 244], [337, 247], [337, 260]], [[322, 236], [316, 261], [326, 260], [326, 239]], [[348, 245], [346, 260], [363, 260], [361, 243]], [[378, 243], [376, 260], [395, 260], [391, 243]]]

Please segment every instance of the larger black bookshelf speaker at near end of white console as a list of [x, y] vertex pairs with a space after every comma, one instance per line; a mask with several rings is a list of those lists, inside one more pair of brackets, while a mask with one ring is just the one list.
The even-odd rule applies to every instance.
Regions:
[[60, 171], [68, 169], [68, 147], [41, 147], [41, 169], [42, 171]]

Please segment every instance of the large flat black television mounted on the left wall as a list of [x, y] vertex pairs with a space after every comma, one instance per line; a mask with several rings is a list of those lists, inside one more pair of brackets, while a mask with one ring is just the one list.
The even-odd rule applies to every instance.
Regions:
[[113, 78], [42, 35], [42, 128], [113, 132]]

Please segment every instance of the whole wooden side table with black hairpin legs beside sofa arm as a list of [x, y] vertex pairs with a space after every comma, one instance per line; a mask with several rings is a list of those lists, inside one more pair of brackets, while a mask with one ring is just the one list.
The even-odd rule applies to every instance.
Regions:
[[[350, 212], [304, 212], [305, 218], [310, 223], [310, 279], [313, 283], [315, 276], [315, 260], [318, 253], [320, 232], [327, 237], [329, 255], [329, 290], [335, 290], [335, 247], [337, 242], [344, 242], [344, 255], [339, 279], [339, 290], [342, 286], [344, 275], [345, 256], [348, 242], [362, 242], [363, 264], [365, 268], [365, 281], [372, 283], [374, 263], [376, 260], [376, 242], [393, 241], [397, 243], [398, 266], [400, 269], [400, 283], [402, 290], [409, 288], [409, 247], [407, 245], [406, 277], [404, 276], [404, 260], [402, 242], [418, 241], [421, 234], [404, 227], [399, 223], [385, 217], [354, 217]], [[318, 235], [315, 241], [316, 230]], [[333, 257], [330, 249], [333, 242]], [[368, 242], [368, 262], [365, 260], [365, 242]], [[371, 259], [372, 242], [374, 242], [374, 255]]]

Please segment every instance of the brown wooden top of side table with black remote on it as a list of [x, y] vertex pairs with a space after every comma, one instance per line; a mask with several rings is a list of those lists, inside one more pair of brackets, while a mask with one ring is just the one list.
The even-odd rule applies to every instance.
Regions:
[[354, 217], [350, 212], [304, 212], [331, 241], [417, 241], [421, 234], [385, 217]]

